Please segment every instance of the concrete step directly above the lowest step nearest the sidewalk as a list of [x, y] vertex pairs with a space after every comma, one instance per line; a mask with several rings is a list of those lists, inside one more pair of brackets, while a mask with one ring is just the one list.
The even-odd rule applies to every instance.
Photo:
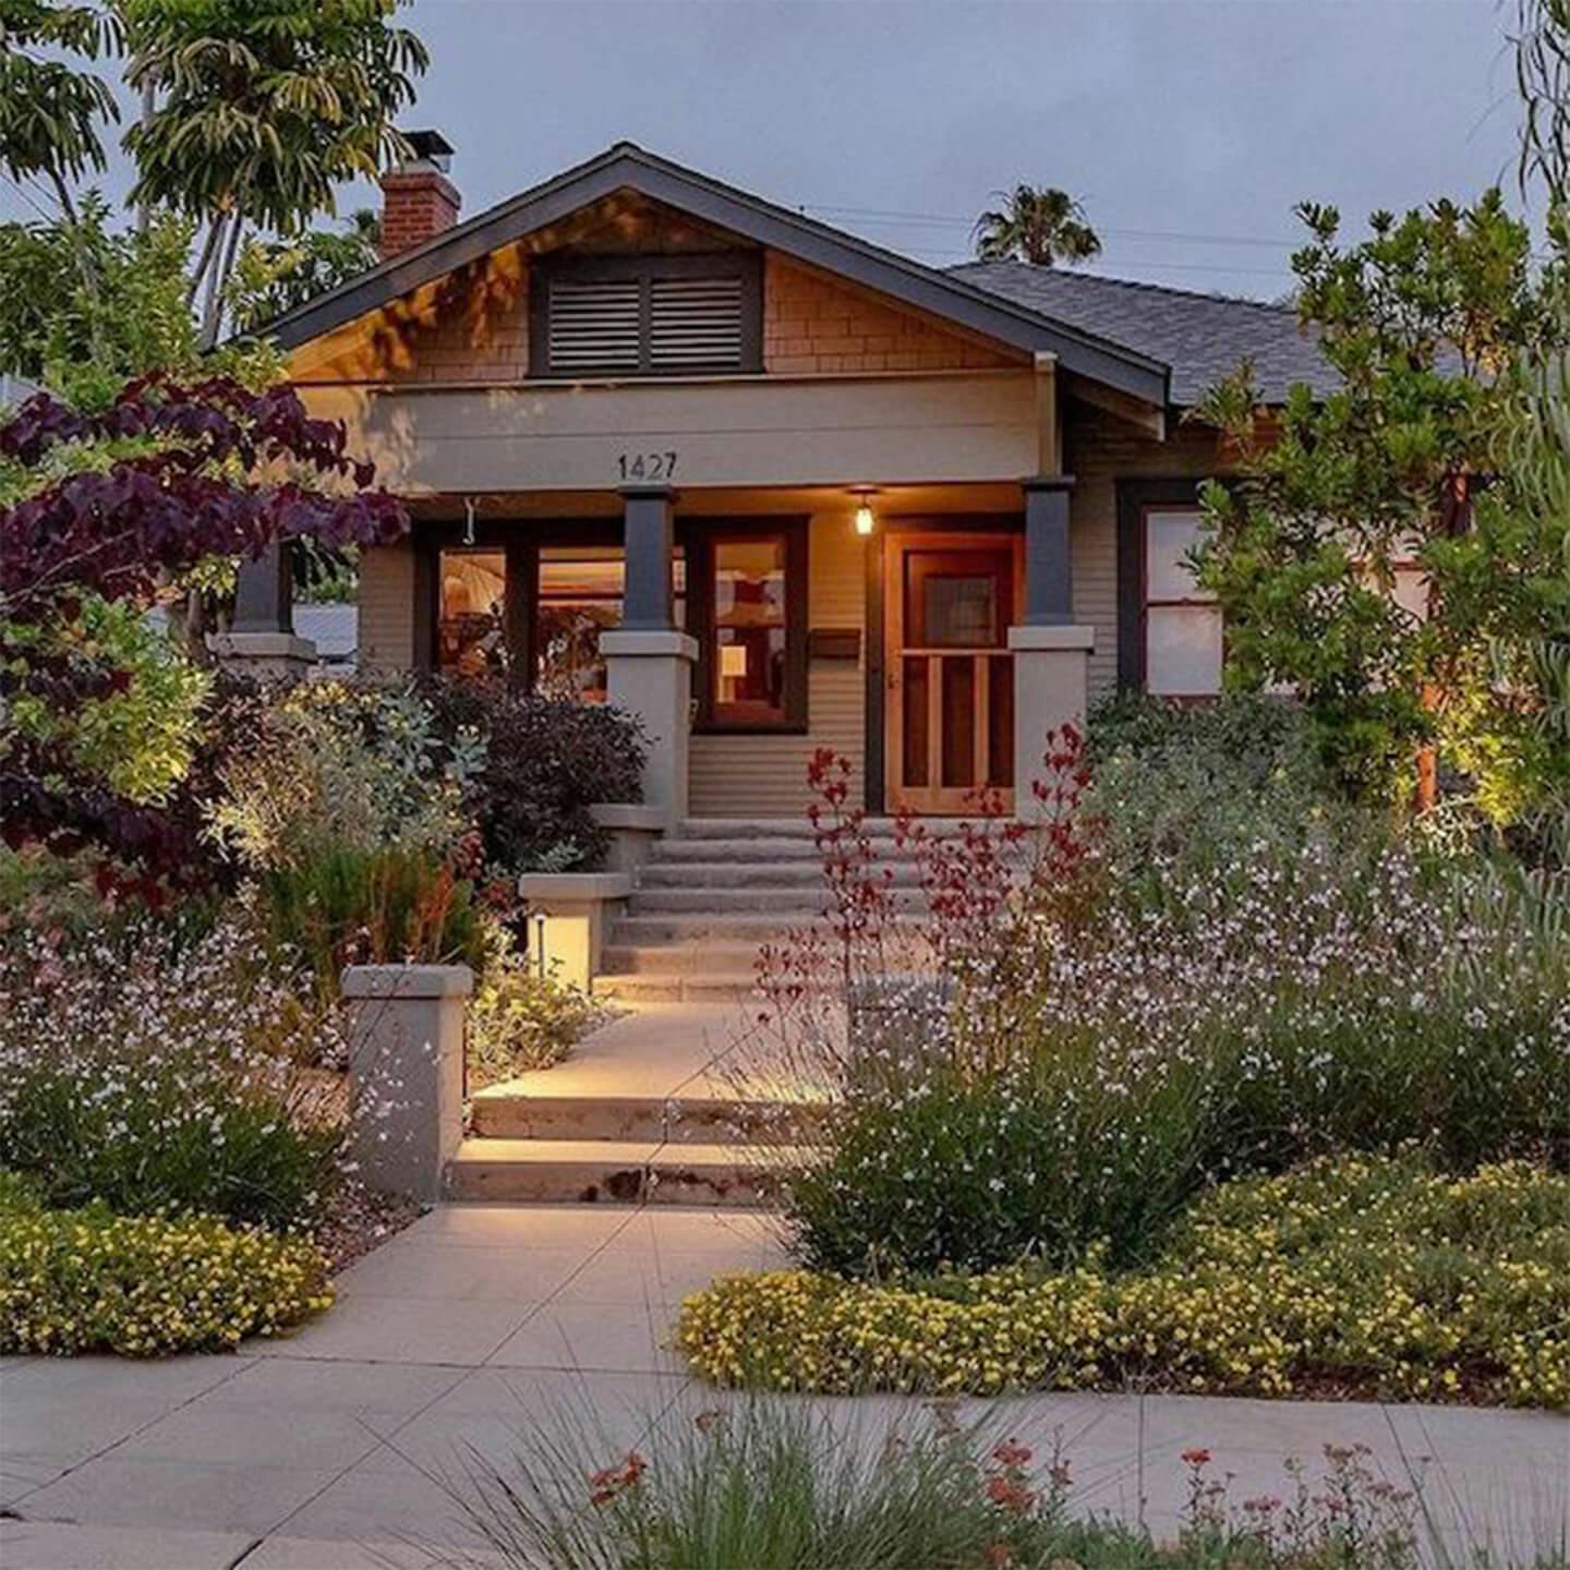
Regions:
[[820, 1108], [694, 1096], [526, 1096], [491, 1085], [471, 1101], [476, 1138], [724, 1145], [810, 1138]]

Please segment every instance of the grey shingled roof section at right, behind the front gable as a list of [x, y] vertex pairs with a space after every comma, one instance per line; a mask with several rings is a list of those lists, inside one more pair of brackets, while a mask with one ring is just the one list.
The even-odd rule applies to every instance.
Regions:
[[1196, 403], [1245, 358], [1254, 363], [1254, 385], [1265, 403], [1284, 402], [1294, 382], [1320, 394], [1336, 386], [1334, 371], [1291, 306], [1028, 262], [964, 262], [948, 276], [1165, 361], [1171, 366], [1171, 402], [1181, 407]]

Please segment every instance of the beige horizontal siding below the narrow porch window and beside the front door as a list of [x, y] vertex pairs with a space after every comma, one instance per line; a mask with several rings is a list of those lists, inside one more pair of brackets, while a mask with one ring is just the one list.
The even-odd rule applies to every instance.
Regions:
[[[867, 543], [848, 512], [812, 520], [807, 546], [809, 622], [860, 628]], [[807, 809], [807, 760], [816, 747], [845, 754], [860, 799], [865, 739], [865, 642], [859, 659], [815, 659], [807, 669], [807, 733], [799, 736], [697, 735], [689, 758], [694, 816], [794, 816]]]

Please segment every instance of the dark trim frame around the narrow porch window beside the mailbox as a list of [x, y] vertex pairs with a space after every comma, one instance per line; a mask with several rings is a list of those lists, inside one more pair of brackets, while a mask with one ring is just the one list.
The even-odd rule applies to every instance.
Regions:
[[[790, 517], [688, 518], [683, 539], [688, 553], [688, 631], [697, 639], [696, 735], [705, 736], [799, 736], [809, 728], [807, 711], [807, 556], [809, 520]], [[714, 545], [719, 540], [766, 540], [785, 537], [785, 719], [777, 724], [743, 725], [714, 716]]]

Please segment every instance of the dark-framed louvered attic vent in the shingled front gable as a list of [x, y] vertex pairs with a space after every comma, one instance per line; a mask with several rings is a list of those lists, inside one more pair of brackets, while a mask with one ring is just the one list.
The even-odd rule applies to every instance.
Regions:
[[551, 259], [532, 294], [535, 375], [761, 371], [755, 254]]

